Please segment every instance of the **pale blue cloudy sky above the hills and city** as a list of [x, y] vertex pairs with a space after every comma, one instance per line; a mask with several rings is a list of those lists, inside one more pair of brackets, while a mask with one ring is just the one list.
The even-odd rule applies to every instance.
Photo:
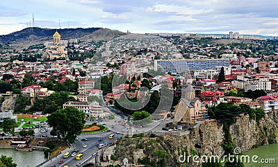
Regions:
[[273, 0], [2, 0], [0, 35], [32, 25], [34, 15], [41, 28], [278, 36], [277, 8]]

